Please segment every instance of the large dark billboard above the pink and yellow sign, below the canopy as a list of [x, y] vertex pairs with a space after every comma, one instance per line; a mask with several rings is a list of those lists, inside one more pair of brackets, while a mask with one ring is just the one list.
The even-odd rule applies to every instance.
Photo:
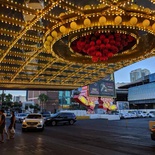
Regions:
[[89, 85], [90, 96], [115, 97], [115, 83], [113, 74]]

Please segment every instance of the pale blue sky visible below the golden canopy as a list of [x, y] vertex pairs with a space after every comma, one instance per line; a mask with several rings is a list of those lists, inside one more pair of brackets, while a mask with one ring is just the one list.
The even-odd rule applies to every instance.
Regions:
[[[130, 66], [124, 67], [124, 68], [116, 71], [114, 73], [115, 82], [116, 83], [117, 82], [119, 82], [119, 83], [130, 82], [130, 72], [132, 70], [135, 70], [138, 68], [148, 69], [148, 70], [150, 70], [151, 74], [155, 73], [155, 57], [142, 60], [140, 62], [134, 63]], [[0, 91], [0, 93], [2, 93], [2, 91]], [[26, 96], [26, 91], [23, 91], [23, 90], [5, 91], [5, 94], [8, 94], [8, 93], [12, 94], [13, 96], [19, 96], [19, 95]]]

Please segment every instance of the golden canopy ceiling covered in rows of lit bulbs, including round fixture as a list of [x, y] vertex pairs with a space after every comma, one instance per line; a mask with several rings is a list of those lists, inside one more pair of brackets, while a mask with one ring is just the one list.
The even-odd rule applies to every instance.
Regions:
[[154, 55], [154, 0], [0, 0], [2, 89], [75, 89]]

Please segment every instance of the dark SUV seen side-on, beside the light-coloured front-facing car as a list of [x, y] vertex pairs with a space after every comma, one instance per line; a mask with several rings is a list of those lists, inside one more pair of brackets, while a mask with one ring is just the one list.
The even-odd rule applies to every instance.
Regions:
[[58, 123], [69, 123], [73, 125], [76, 122], [76, 116], [72, 112], [58, 112], [45, 120], [46, 126], [55, 126]]

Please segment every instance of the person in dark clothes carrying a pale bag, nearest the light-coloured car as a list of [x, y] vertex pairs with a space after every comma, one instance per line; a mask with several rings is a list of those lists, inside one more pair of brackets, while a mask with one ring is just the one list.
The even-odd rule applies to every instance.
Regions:
[[12, 111], [12, 115], [10, 118], [10, 125], [9, 125], [9, 137], [11, 139], [14, 139], [14, 135], [15, 135], [15, 122], [16, 122], [16, 117], [15, 117], [15, 113], [14, 111]]

